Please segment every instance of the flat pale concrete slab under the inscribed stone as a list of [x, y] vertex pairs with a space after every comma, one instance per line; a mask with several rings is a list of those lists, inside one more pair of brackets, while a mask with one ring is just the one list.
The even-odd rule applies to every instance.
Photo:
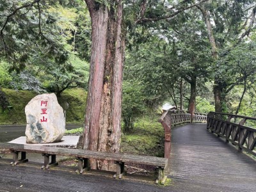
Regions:
[[26, 143], [26, 136], [19, 137], [8, 143], [31, 145], [31, 146], [53, 146], [53, 147], [67, 147], [67, 148], [77, 148], [80, 136], [63, 136], [60, 142], [56, 143]]

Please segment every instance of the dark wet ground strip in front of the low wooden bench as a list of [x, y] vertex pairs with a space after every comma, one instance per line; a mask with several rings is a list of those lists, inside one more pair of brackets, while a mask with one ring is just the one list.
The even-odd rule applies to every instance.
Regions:
[[0, 161], [0, 191], [19, 192], [113, 192], [113, 191], [136, 191], [136, 192], [172, 192], [170, 188], [119, 180], [95, 175], [77, 175], [74, 172], [55, 170], [40, 170], [26, 166], [4, 165]]

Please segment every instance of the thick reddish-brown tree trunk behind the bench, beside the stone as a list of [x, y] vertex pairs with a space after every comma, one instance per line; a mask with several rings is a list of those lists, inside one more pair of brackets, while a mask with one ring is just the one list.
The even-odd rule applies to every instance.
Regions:
[[[83, 148], [119, 152], [125, 47], [122, 1], [109, 1], [109, 6], [85, 1], [92, 19], [92, 53]], [[92, 161], [91, 166], [113, 170], [113, 164], [107, 161]]]

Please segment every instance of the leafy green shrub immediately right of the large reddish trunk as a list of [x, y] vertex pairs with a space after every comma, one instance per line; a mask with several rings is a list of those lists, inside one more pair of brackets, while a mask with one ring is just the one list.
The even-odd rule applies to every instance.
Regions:
[[123, 82], [122, 120], [125, 131], [133, 129], [136, 117], [145, 111], [142, 89], [143, 85], [140, 82]]

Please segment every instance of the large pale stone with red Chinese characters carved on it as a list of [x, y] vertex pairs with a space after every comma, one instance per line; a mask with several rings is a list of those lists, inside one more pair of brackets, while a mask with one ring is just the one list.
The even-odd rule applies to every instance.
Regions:
[[54, 143], [65, 133], [65, 116], [54, 93], [37, 95], [25, 108], [27, 143]]

